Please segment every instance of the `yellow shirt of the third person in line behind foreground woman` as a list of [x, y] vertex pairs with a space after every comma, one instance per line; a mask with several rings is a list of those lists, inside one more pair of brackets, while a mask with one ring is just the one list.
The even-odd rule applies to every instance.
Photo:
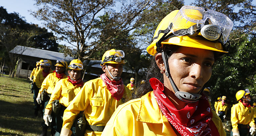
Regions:
[[[63, 79], [67, 78], [67, 76], [64, 74], [63, 75]], [[54, 73], [50, 73], [43, 81], [42, 85], [41, 85], [41, 89], [39, 90], [38, 94], [41, 94], [43, 92], [44, 89], [46, 89], [48, 94], [52, 94], [54, 87], [56, 85], [56, 83], [61, 80], [56, 76], [56, 72]]]

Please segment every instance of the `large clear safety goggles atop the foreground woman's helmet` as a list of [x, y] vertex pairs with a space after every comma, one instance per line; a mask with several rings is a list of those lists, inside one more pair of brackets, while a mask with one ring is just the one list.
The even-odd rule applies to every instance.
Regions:
[[[208, 40], [217, 40], [222, 34], [223, 43], [228, 41], [233, 26], [226, 15], [194, 6], [183, 6], [169, 22], [169, 30], [176, 36], [200, 32]], [[200, 31], [197, 31], [199, 29]]]

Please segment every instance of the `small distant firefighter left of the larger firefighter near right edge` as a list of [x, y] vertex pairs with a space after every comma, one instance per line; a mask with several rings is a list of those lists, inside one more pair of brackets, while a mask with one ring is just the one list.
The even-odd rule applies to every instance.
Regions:
[[227, 114], [227, 102], [226, 102], [226, 96], [221, 97], [221, 101], [218, 102], [216, 107], [216, 113], [223, 122], [226, 114]]

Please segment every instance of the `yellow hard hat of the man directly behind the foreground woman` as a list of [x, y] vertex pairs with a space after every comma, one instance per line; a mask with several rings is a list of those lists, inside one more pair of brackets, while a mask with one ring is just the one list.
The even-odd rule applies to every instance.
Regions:
[[115, 49], [107, 50], [102, 56], [100, 65], [103, 66], [105, 63], [126, 63], [124, 61], [124, 51]]

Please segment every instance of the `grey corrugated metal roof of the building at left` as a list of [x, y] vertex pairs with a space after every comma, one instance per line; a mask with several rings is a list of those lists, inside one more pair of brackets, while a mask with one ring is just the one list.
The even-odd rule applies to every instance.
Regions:
[[17, 45], [10, 52], [15, 53], [15, 54], [22, 54], [22, 55], [38, 57], [38, 58], [45, 58], [45, 59], [50, 59], [50, 60], [64, 59], [66, 61], [70, 61], [73, 59], [69, 55], [65, 57], [64, 53], [43, 50], [43, 49], [37, 49], [37, 48], [31, 48], [31, 47], [25, 47], [25, 46], [20, 46], [20, 45]]

